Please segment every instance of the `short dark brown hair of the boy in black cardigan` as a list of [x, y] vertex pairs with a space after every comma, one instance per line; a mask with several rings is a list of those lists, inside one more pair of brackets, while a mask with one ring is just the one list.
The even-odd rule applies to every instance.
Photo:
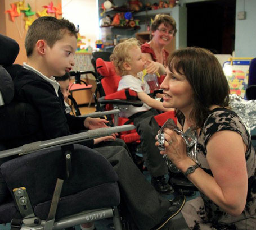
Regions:
[[28, 29], [25, 39], [26, 56], [32, 55], [35, 44], [43, 39], [50, 47], [53, 47], [57, 40], [63, 38], [68, 32], [77, 38], [78, 29], [67, 19], [56, 19], [55, 17], [39, 17]]

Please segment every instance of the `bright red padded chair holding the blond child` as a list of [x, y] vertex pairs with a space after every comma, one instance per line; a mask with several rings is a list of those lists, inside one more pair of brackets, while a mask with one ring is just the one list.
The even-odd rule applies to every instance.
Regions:
[[[118, 89], [118, 83], [121, 79], [115, 72], [115, 68], [111, 62], [104, 61], [101, 58], [96, 60], [96, 68], [99, 74], [97, 79], [98, 93], [100, 94], [100, 98], [97, 100], [96, 107], [100, 108], [101, 105], [105, 105], [105, 109], [124, 109], [124, 105], [134, 105], [134, 106], [142, 106], [143, 103], [137, 98], [137, 93], [130, 89], [120, 90]], [[122, 108], [120, 108], [122, 105]], [[176, 121], [176, 117], [174, 116], [174, 112], [165, 112], [155, 116], [156, 122], [158, 122], [159, 126], [162, 126], [168, 118], [172, 118]], [[132, 123], [129, 122], [128, 118], [119, 117], [118, 123], [114, 125], [123, 125], [124, 123]], [[120, 134], [120, 138], [125, 141], [125, 143], [132, 142], [140, 142], [140, 135], [136, 132], [136, 130], [122, 132]]]

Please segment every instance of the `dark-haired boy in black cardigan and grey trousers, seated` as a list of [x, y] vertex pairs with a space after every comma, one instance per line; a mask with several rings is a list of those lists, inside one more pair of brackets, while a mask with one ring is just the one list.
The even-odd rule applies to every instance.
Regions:
[[[34, 141], [66, 136], [84, 127], [106, 126], [104, 119], [84, 120], [66, 114], [59, 84], [52, 78], [63, 76], [74, 66], [77, 33], [74, 24], [54, 17], [40, 17], [29, 27], [25, 40], [28, 62], [17, 72], [14, 84], [16, 100], [32, 104], [41, 117], [42, 134], [34, 136]], [[185, 197], [172, 201], [161, 197], [133, 163], [124, 142], [106, 139], [115, 140], [115, 135], [81, 144], [93, 146], [113, 166], [120, 194], [138, 229], [166, 228], [182, 209]]]

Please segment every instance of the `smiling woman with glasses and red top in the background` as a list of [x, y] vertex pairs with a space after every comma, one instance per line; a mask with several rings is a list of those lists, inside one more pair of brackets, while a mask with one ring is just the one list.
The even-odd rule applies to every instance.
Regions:
[[164, 46], [172, 42], [177, 32], [176, 21], [169, 15], [158, 14], [155, 16], [150, 30], [151, 40], [141, 45], [141, 52], [143, 57], [151, 60], [147, 63], [147, 70], [163, 75], [169, 56]]

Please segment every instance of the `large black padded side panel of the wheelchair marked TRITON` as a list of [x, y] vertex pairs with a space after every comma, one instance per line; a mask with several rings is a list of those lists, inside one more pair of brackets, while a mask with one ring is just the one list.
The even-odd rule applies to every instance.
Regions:
[[[17, 157], [3, 163], [0, 169], [10, 192], [25, 187], [35, 214], [45, 218], [56, 178], [65, 175], [65, 159], [60, 147]], [[116, 181], [117, 174], [102, 155], [85, 146], [74, 145], [72, 176], [64, 181], [56, 217], [118, 205], [120, 195]], [[5, 220], [8, 218], [13, 217], [5, 216]], [[0, 223], [2, 221], [0, 214]]]

